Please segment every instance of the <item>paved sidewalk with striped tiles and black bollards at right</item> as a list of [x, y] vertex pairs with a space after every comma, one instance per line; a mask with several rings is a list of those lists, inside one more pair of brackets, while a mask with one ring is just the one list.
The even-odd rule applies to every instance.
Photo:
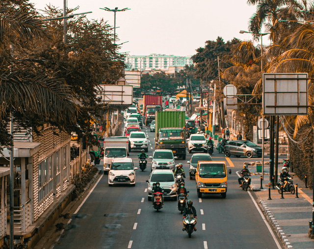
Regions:
[[285, 199], [280, 199], [277, 188], [271, 187], [271, 200], [268, 200], [269, 167], [264, 166], [261, 191], [262, 173], [256, 173], [256, 166], [248, 168], [252, 173], [252, 189], [283, 244], [289, 249], [314, 249], [314, 239], [308, 236], [309, 221], [312, 221], [312, 190], [306, 189], [304, 182], [294, 173], [289, 173], [294, 176], [294, 185], [298, 184], [299, 198], [295, 198], [295, 194], [284, 193]]

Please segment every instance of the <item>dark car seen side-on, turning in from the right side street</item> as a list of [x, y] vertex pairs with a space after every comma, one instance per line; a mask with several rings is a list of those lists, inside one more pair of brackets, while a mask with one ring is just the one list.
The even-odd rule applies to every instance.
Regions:
[[246, 156], [247, 158], [252, 156], [262, 157], [262, 147], [247, 140], [228, 141], [224, 152], [226, 157], [231, 155], [236, 157]]

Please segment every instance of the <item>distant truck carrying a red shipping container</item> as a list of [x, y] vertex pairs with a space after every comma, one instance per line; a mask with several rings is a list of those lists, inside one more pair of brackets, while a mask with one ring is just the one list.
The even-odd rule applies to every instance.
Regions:
[[155, 112], [162, 110], [161, 95], [144, 95], [143, 97], [143, 122], [149, 125], [155, 120]]

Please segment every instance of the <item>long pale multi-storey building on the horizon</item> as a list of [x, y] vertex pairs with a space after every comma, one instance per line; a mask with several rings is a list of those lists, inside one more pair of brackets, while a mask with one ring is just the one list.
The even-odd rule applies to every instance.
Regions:
[[163, 72], [169, 70], [169, 67], [172, 67], [176, 71], [180, 71], [185, 65], [192, 65], [193, 61], [191, 56], [175, 56], [175, 55], [166, 55], [166, 54], [150, 54], [150, 55], [129, 55], [126, 56], [125, 65], [127, 70], [147, 70], [149, 69], [159, 69]]

